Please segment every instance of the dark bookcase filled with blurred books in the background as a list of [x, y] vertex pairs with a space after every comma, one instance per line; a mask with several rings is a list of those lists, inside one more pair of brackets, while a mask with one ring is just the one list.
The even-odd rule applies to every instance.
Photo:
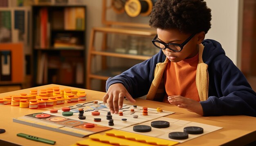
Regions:
[[85, 88], [86, 6], [32, 6], [34, 86]]

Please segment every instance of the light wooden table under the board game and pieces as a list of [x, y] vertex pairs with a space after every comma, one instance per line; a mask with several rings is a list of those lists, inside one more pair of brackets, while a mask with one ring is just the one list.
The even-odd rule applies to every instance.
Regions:
[[[1, 93], [0, 97], [5, 97], [8, 95], [19, 95], [19, 93], [29, 93], [31, 89], [40, 89], [59, 86], [60, 89], [63, 88], [71, 88], [71, 89], [79, 89], [84, 90], [87, 93], [86, 102], [93, 100], [102, 100], [104, 92], [92, 91], [68, 86], [61, 86], [56, 84], [49, 84], [45, 86], [39, 86], [34, 88], [23, 89], [19, 91]], [[79, 102], [83, 103], [83, 102]], [[125, 104], [130, 104], [128, 101], [125, 101]], [[36, 128], [32, 126], [27, 126], [24, 124], [18, 124], [12, 122], [12, 118], [22, 117], [27, 114], [37, 113], [48, 111], [50, 109], [58, 109], [64, 106], [70, 106], [71, 104], [65, 103], [64, 105], [56, 105], [50, 108], [41, 108], [41, 109], [29, 109], [29, 108], [19, 108], [17, 106], [11, 105], [0, 105], [0, 128], [5, 129], [6, 132], [0, 134], [0, 139], [2, 141], [11, 142], [13, 144], [19, 145], [36, 145], [36, 146], [45, 146], [48, 144], [44, 144], [41, 142], [31, 141], [22, 137], [17, 137], [17, 133], [25, 133], [45, 139], [51, 139], [56, 141], [56, 146], [68, 146], [71, 144], [75, 144], [77, 141], [86, 139], [87, 137], [80, 138], [71, 135], [66, 135], [63, 133], [58, 133], [54, 131], [48, 131], [41, 128]], [[72, 104], [73, 105], [73, 104]], [[209, 124], [213, 126], [222, 127], [222, 129], [218, 131], [214, 131], [212, 133], [202, 135], [198, 138], [191, 139], [182, 144], [178, 144], [178, 146], [182, 145], [245, 145], [250, 142], [256, 140], [256, 117], [249, 117], [244, 115], [238, 116], [218, 116], [218, 117], [202, 117], [195, 113], [191, 113], [186, 109], [178, 108], [177, 106], [173, 106], [171, 104], [162, 103], [162, 102], [154, 102], [150, 100], [136, 99], [136, 105], [138, 106], [147, 106], [150, 108], [160, 107], [166, 111], [175, 112], [172, 115], [168, 115], [167, 117], [171, 117], [174, 119], [182, 119], [191, 122], [198, 122], [203, 124]], [[1, 142], [0, 142], [1, 145]], [[48, 145], [49, 146], [49, 145]]]

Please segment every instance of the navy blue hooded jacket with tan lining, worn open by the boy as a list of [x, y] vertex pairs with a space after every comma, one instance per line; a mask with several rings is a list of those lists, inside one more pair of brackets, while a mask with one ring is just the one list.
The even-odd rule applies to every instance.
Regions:
[[[163, 73], [168, 61], [160, 50], [152, 58], [110, 77], [106, 90], [111, 84], [121, 83], [133, 98], [147, 95], [147, 100], [162, 102], [165, 94]], [[215, 40], [207, 39], [200, 44], [196, 86], [204, 116], [256, 117], [256, 93]]]

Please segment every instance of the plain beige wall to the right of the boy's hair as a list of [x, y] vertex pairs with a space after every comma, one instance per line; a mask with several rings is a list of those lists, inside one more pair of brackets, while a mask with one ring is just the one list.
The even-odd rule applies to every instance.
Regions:
[[226, 55], [240, 66], [241, 49], [241, 17], [243, 11], [242, 0], [205, 0], [211, 9], [211, 29], [206, 38], [217, 40], [222, 44]]

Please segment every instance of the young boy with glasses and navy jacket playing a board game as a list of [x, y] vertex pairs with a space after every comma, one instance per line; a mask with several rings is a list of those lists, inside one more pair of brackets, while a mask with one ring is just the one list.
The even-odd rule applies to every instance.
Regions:
[[219, 42], [204, 40], [211, 28], [211, 9], [203, 0], [158, 0], [149, 25], [160, 49], [149, 60], [109, 78], [107, 102], [118, 113], [126, 97], [168, 102], [203, 116], [256, 117], [256, 93], [225, 55]]

